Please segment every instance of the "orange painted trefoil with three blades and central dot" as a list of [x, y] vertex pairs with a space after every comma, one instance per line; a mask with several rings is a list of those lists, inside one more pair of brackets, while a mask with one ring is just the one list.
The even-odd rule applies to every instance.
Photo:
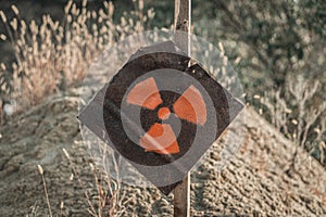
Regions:
[[[127, 95], [127, 103], [139, 105], [148, 110], [155, 110], [163, 103], [156, 82], [153, 77], [137, 84]], [[200, 93], [195, 87], [190, 86], [173, 104], [174, 115], [196, 125], [206, 123], [206, 105]], [[167, 119], [172, 112], [168, 107], [161, 107], [158, 117], [162, 120]], [[155, 123], [140, 138], [139, 144], [147, 152], [158, 154], [177, 154], [180, 152], [177, 138], [173, 128], [168, 124]]]

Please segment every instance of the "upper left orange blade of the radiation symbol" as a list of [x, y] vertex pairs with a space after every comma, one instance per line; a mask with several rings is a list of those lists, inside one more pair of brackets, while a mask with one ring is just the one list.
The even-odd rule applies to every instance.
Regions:
[[154, 110], [162, 103], [154, 78], [148, 78], [137, 84], [127, 95], [127, 103]]

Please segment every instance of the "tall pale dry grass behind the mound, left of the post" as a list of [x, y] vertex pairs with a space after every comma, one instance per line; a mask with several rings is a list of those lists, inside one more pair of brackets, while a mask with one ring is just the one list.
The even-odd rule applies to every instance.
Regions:
[[40, 25], [35, 21], [27, 24], [15, 5], [12, 21], [0, 11], [7, 28], [7, 35], [0, 38], [10, 40], [16, 59], [11, 67], [1, 63], [1, 97], [15, 100], [17, 110], [23, 110], [40, 103], [46, 95], [78, 85], [89, 64], [106, 47], [143, 31], [153, 18], [152, 10], [143, 14], [142, 1], [135, 1], [135, 5], [137, 11], [124, 13], [118, 24], [113, 22], [112, 2], [104, 2], [99, 11], [89, 11], [87, 0], [82, 8], [71, 0], [64, 8], [63, 22], [43, 15]]

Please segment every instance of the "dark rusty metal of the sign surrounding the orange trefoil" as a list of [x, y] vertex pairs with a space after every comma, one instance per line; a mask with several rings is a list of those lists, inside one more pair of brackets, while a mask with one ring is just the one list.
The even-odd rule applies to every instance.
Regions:
[[[168, 41], [142, 48], [136, 52], [130, 58], [130, 61], [97, 93], [89, 105], [78, 116], [80, 122], [98, 137], [104, 141], [106, 140], [105, 138], [110, 138], [108, 144], [124, 156], [140, 174], [147, 177], [165, 194], [168, 194], [176, 186], [174, 180], [176, 178], [181, 180], [186, 176], [243, 107], [239, 101], [215, 81], [199, 64], [188, 67], [190, 59], [178, 52], [177, 48], [174, 49], [175, 52], [146, 52], [147, 54], [142, 55], [143, 49], [146, 51], [160, 51], [162, 47], [172, 46], [173, 42]], [[141, 107], [140, 117], [137, 117], [138, 114], [126, 114], [125, 111], [134, 110], [135, 106], [138, 106], [124, 102], [130, 87], [148, 79], [146, 76], [156, 69], [166, 72], [166, 75], [168, 75], [168, 71], [173, 73], [178, 72], [175, 77], [166, 77], [163, 80], [155, 79], [162, 103], [153, 110]], [[191, 79], [198, 82], [189, 82], [189, 79], [187, 80], [186, 77], [191, 77]], [[139, 81], [135, 84], [137, 79]], [[176, 80], [178, 82], [175, 85], [178, 86], [177, 89], [180, 93], [189, 89], [190, 86], [193, 86], [203, 95], [204, 103], [209, 103], [208, 99], [211, 100], [213, 106], [209, 106], [208, 104], [208, 119], [204, 124], [195, 124], [185, 118], [178, 118], [174, 114], [173, 105], [180, 99], [181, 94], [161, 90], [160, 87], [168, 86]], [[209, 98], [205, 98], [205, 94]], [[121, 108], [122, 104], [126, 104], [127, 107], [125, 111]], [[167, 107], [171, 111], [172, 115], [170, 115], [168, 119], [162, 120], [159, 118], [158, 113], [162, 107]], [[137, 118], [140, 118], [140, 125], [137, 124]], [[122, 119], [127, 119], [127, 124], [124, 125]], [[171, 125], [175, 130], [174, 126], [176, 125], [174, 122], [180, 122], [179, 133], [175, 135], [179, 152], [174, 154], [160, 154], [159, 152], [147, 151], [133, 141], [125, 130], [127, 128], [135, 137], [142, 138], [155, 123]], [[214, 123], [217, 124], [215, 125]], [[205, 131], [212, 131], [212, 127], [215, 127], [214, 137], [205, 138]], [[147, 166], [162, 167], [152, 170]], [[162, 186], [162, 180], [163, 183], [168, 184]]]

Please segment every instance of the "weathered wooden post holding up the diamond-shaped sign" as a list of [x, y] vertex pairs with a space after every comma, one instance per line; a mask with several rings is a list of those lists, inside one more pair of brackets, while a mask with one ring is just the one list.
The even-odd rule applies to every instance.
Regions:
[[[191, 23], [191, 0], [175, 0], [174, 4], [174, 25], [175, 30], [190, 34]], [[176, 33], [175, 44], [190, 55], [190, 41], [188, 35]], [[174, 190], [174, 216], [190, 216], [190, 174], [177, 184]]]

